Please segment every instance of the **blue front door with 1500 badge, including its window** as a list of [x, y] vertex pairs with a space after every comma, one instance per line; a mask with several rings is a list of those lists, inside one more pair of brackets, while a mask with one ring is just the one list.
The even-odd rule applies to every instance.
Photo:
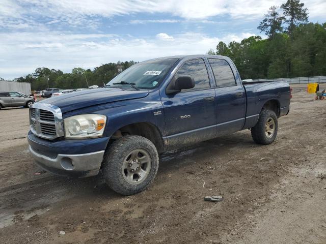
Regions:
[[172, 148], [175, 145], [208, 140], [216, 134], [215, 90], [204, 59], [186, 61], [173, 79], [181, 76], [193, 77], [195, 87], [173, 95], [161, 94], [166, 136]]

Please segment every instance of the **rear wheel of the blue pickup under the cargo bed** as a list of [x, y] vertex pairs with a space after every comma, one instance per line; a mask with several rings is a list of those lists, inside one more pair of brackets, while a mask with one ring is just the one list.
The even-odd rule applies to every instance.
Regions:
[[278, 120], [274, 111], [262, 110], [257, 124], [251, 128], [251, 136], [258, 144], [268, 145], [272, 143], [278, 131]]

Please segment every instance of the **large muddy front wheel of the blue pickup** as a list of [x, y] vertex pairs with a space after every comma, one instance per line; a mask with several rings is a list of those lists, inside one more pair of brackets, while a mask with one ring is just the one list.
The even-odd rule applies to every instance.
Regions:
[[158, 153], [145, 137], [124, 136], [108, 147], [103, 160], [106, 184], [122, 195], [144, 191], [154, 180]]

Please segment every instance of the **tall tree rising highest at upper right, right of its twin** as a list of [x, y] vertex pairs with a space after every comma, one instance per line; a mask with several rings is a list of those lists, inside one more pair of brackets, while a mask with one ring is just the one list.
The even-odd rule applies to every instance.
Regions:
[[304, 8], [305, 4], [300, 3], [300, 0], [287, 0], [281, 5], [285, 22], [288, 23], [287, 31], [290, 37], [293, 38], [295, 26], [308, 22], [308, 9]]

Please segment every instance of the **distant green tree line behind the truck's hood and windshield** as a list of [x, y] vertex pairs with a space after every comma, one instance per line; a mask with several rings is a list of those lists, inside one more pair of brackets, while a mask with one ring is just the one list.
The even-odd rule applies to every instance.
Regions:
[[134, 61], [104, 64], [95, 69], [84, 70], [73, 68], [71, 73], [64, 73], [61, 70], [37, 68], [33, 74], [14, 79], [18, 82], [31, 83], [32, 90], [43, 90], [48, 87], [62, 89], [88, 88], [91, 85], [104, 86], [113, 79], [121, 70], [135, 64]]

